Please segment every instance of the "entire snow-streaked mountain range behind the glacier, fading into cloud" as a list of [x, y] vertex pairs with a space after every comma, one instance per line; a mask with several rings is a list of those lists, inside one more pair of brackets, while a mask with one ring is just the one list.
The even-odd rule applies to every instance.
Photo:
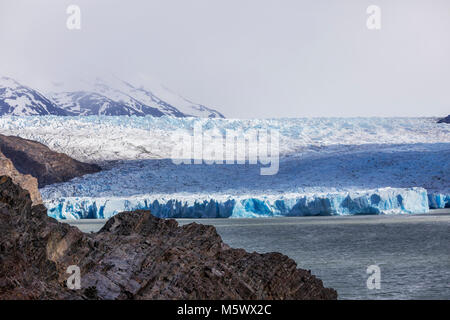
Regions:
[[11, 78], [0, 79], [0, 115], [224, 118], [220, 112], [193, 103], [149, 78], [133, 84], [116, 77], [58, 83], [46, 88], [45, 95]]

